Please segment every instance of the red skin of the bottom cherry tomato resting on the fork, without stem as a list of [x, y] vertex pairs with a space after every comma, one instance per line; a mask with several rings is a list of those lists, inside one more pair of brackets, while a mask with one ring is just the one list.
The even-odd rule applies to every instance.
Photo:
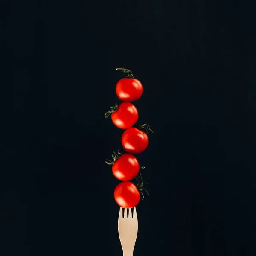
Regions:
[[131, 181], [123, 181], [114, 191], [116, 203], [123, 208], [133, 208], [140, 202], [140, 192]]

